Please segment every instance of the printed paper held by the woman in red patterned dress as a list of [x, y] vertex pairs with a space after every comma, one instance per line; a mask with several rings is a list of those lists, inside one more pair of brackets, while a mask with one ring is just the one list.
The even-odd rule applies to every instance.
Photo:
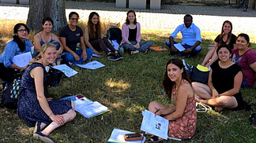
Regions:
[[145, 110], [142, 112], [143, 119], [141, 130], [149, 134], [154, 134], [160, 138], [168, 139], [168, 119], [161, 116], [154, 116], [154, 113]]

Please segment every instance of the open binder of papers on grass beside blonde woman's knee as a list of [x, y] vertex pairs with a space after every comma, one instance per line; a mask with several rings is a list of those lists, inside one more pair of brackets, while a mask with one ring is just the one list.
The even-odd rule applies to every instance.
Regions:
[[81, 115], [86, 118], [100, 116], [101, 114], [109, 111], [106, 106], [101, 105], [97, 101], [91, 101], [81, 94], [78, 94], [76, 96], [76, 101], [73, 102], [76, 105], [74, 110], [81, 113]]

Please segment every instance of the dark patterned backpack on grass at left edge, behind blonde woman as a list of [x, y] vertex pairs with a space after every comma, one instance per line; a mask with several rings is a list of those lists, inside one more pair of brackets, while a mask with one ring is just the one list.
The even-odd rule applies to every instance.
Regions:
[[20, 94], [21, 77], [6, 83], [2, 92], [2, 105], [6, 108], [17, 108], [17, 97]]

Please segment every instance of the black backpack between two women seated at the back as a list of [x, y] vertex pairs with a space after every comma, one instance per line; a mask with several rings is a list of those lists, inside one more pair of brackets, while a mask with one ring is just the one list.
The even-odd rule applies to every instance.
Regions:
[[107, 30], [107, 39], [116, 40], [119, 45], [122, 41], [122, 31], [119, 27], [111, 27]]

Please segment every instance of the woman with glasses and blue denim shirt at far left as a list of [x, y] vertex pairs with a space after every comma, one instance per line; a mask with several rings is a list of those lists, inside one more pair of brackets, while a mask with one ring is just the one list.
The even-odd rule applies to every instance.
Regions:
[[[18, 72], [24, 72], [28, 65], [19, 67], [13, 64], [13, 57], [21, 53], [31, 52], [31, 42], [27, 38], [29, 29], [25, 24], [16, 24], [13, 28], [13, 39], [6, 44], [6, 48], [0, 56], [0, 79], [5, 82], [12, 82], [14, 75]], [[0, 85], [0, 91], [5, 83]]]

